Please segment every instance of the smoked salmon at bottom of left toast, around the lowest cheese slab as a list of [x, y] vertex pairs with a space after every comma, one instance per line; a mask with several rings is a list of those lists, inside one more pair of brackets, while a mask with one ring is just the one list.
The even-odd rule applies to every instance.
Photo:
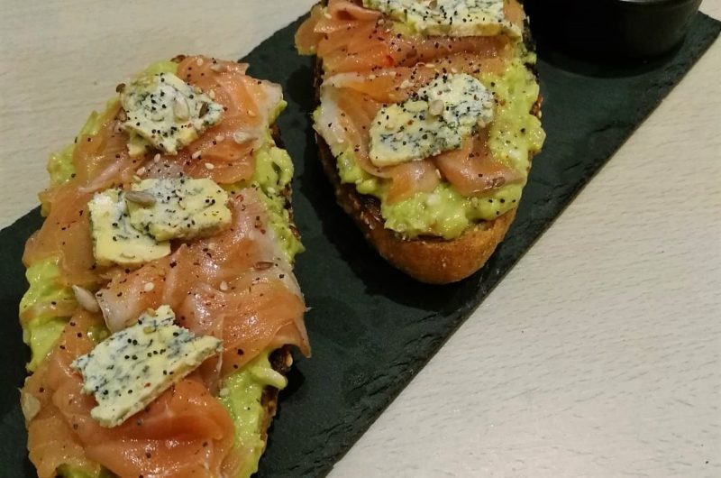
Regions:
[[233, 446], [233, 422], [196, 375], [119, 427], [101, 427], [90, 417], [95, 399], [81, 392], [82, 377], [70, 363], [93, 348], [87, 332], [101, 320], [84, 311], [72, 317], [59, 345], [23, 387], [41, 403], [28, 423], [30, 458], [40, 478], [54, 477], [59, 464], [88, 461], [123, 477], [220, 476]]

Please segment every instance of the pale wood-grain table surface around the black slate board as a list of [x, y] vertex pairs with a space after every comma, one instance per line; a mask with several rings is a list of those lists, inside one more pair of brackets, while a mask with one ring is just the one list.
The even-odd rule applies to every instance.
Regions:
[[[2, 0], [0, 226], [120, 79], [313, 3]], [[721, 476], [719, 78], [716, 42], [333, 477]]]

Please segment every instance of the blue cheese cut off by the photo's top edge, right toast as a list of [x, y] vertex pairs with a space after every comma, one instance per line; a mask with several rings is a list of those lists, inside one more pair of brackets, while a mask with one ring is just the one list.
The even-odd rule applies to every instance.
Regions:
[[520, 25], [507, 20], [504, 0], [363, 0], [363, 5], [429, 36], [523, 34]]

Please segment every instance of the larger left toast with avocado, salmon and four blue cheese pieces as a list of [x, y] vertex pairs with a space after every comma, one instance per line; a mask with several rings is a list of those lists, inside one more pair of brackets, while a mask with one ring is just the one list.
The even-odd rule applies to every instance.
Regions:
[[117, 87], [50, 158], [21, 392], [40, 478], [254, 473], [310, 349], [278, 85], [201, 56]]

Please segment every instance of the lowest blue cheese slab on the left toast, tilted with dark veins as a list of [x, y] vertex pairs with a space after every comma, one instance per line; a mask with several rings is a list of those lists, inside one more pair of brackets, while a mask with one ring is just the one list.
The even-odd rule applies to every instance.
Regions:
[[90, 416], [103, 427], [116, 427], [221, 350], [220, 340], [175, 325], [173, 310], [160, 306], [78, 357], [72, 367], [83, 375], [82, 391], [96, 398]]

